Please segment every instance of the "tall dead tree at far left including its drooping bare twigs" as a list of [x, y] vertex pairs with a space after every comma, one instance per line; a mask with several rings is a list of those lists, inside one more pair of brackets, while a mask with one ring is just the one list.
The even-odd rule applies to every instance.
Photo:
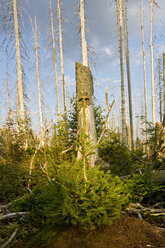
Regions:
[[[24, 107], [24, 87], [23, 87], [23, 68], [22, 58], [25, 55], [22, 35], [20, 31], [21, 4], [19, 0], [1, 0], [2, 25], [5, 31], [4, 44], [7, 42], [6, 51], [16, 56], [18, 94], [19, 94], [19, 115], [20, 122], [25, 128], [25, 107]], [[24, 54], [23, 54], [24, 53]]]

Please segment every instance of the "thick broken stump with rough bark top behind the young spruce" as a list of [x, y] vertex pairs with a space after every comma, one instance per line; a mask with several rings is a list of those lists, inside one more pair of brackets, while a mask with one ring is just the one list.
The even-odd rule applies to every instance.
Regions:
[[[77, 94], [77, 112], [78, 112], [78, 130], [83, 129], [83, 100], [85, 99], [85, 116], [86, 116], [86, 134], [88, 140], [92, 141], [92, 146], [97, 144], [94, 106], [93, 106], [93, 77], [89, 67], [80, 63], [76, 63], [76, 94]], [[97, 148], [94, 154], [88, 156], [89, 168], [94, 167], [98, 157]], [[78, 151], [77, 159], [82, 158], [82, 154]]]

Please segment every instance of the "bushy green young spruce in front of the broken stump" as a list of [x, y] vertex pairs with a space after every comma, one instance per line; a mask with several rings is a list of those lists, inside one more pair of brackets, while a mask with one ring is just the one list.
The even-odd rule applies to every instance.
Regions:
[[15, 205], [18, 211], [30, 211], [36, 223], [73, 224], [93, 229], [109, 225], [128, 201], [123, 183], [109, 171], [93, 168], [83, 178], [81, 163], [61, 165], [54, 179]]

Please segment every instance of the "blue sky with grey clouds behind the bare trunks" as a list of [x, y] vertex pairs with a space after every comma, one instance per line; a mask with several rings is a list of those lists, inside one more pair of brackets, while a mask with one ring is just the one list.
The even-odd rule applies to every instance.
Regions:
[[[54, 15], [56, 16], [56, 0], [52, 0]], [[155, 86], [158, 84], [157, 76], [157, 59], [159, 55], [165, 51], [165, 1], [157, 0], [160, 9], [153, 8], [153, 37], [154, 37], [154, 66], [155, 66]], [[67, 97], [72, 96], [75, 92], [75, 62], [81, 61], [80, 35], [79, 35], [79, 17], [77, 15], [78, 0], [62, 0], [63, 9], [63, 45], [64, 45], [64, 72], [65, 82], [67, 86]], [[135, 96], [140, 106], [141, 87], [143, 87], [143, 61], [142, 61], [142, 45], [141, 45], [141, 29], [140, 29], [140, 0], [128, 0], [127, 17], [128, 17], [128, 33], [129, 33], [129, 50], [130, 65], [132, 79], [133, 104], [135, 104]], [[33, 51], [33, 37], [30, 16], [32, 19], [37, 17], [39, 30], [39, 46], [40, 46], [40, 76], [41, 89], [43, 94], [43, 109], [45, 118], [49, 116], [49, 120], [55, 117], [57, 103], [55, 93], [55, 79], [53, 70], [53, 61], [48, 49], [49, 39], [49, 1], [48, 0], [29, 0], [26, 6], [26, 13], [23, 13], [24, 27], [21, 25], [21, 32], [24, 35], [25, 44], [27, 46], [29, 61], [25, 62], [24, 69], [27, 75], [26, 92], [30, 102], [26, 103], [30, 106], [33, 119], [33, 127], [38, 128], [38, 94], [37, 82], [35, 76], [35, 58]], [[101, 104], [105, 108], [105, 86], [108, 87], [109, 101], [112, 102], [112, 96], [115, 97], [114, 112], [117, 116], [118, 111], [118, 89], [120, 87], [120, 61], [118, 48], [117, 33], [117, 17], [116, 4], [111, 0], [86, 0], [86, 28], [87, 43], [92, 47], [93, 53], [89, 53], [90, 68], [94, 76], [95, 100], [96, 104]], [[56, 18], [56, 17], [55, 17]], [[55, 19], [55, 27], [58, 29]], [[150, 69], [150, 48], [149, 48], [149, 0], [144, 0], [144, 34], [146, 49], [146, 65], [147, 65], [147, 93], [148, 108], [151, 120], [151, 69]], [[1, 30], [0, 40], [3, 40]], [[56, 38], [58, 34], [56, 33]], [[59, 46], [57, 45], [58, 51]], [[15, 89], [16, 67], [15, 58], [10, 62], [6, 62], [6, 54], [4, 48], [0, 50], [0, 124], [5, 122], [7, 116], [7, 105], [4, 85], [4, 68], [7, 65], [9, 73], [9, 91], [12, 109], [15, 109]], [[60, 82], [60, 60], [58, 54], [58, 75]], [[93, 63], [94, 62], [94, 63]], [[126, 80], [127, 84], [127, 80]], [[61, 87], [60, 87], [61, 88]], [[61, 91], [60, 91], [61, 92]], [[69, 93], [70, 92], [70, 93]], [[61, 96], [60, 96], [61, 98]], [[157, 97], [158, 100], [158, 97]], [[157, 104], [157, 113], [158, 110]], [[61, 104], [62, 109], [62, 104]], [[135, 109], [135, 105], [134, 105]], [[47, 111], [48, 110], [48, 111]], [[140, 108], [138, 107], [140, 115]], [[135, 113], [134, 113], [135, 114]], [[157, 114], [157, 120], [159, 115]]]

